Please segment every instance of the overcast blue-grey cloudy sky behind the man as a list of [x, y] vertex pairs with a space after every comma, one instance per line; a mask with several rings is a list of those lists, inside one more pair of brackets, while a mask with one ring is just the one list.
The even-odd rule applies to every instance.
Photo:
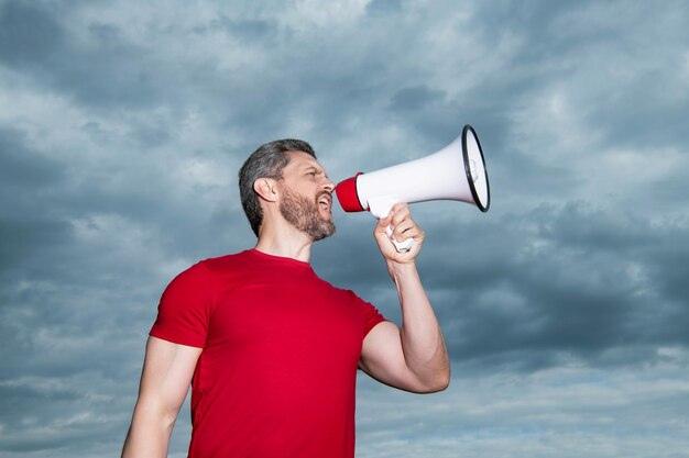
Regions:
[[[412, 205], [452, 380], [358, 380], [358, 458], [689, 457], [685, 1], [0, 0], [0, 456], [119, 456], [160, 295], [255, 238], [237, 172], [471, 124], [491, 208]], [[375, 220], [311, 264], [400, 323]], [[185, 457], [188, 405], [171, 457]]]

